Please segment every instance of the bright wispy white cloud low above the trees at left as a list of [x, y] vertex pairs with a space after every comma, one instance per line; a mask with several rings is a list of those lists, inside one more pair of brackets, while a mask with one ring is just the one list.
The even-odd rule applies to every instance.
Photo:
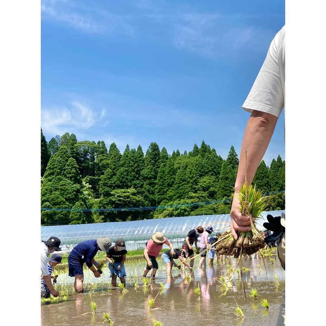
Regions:
[[79, 102], [70, 108], [42, 108], [41, 126], [46, 133], [62, 135], [67, 128], [88, 129], [99, 119], [98, 114]]

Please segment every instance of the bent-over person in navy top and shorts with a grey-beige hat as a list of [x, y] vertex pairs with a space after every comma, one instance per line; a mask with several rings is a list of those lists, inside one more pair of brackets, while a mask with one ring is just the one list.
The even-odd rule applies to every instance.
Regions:
[[76, 292], [83, 292], [84, 290], [83, 264], [86, 264], [86, 266], [94, 273], [95, 277], [100, 277], [100, 272], [94, 267], [99, 265], [94, 257], [98, 250], [107, 252], [109, 251], [110, 247], [110, 238], [86, 240], [74, 246], [68, 256], [68, 267], [69, 276], [75, 276], [74, 287]]

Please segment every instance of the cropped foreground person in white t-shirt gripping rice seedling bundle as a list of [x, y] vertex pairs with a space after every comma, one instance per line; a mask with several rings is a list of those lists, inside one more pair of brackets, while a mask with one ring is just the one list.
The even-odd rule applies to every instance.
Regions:
[[[242, 215], [239, 207], [238, 192], [245, 182], [251, 184], [260, 161], [272, 138], [276, 122], [285, 102], [285, 26], [275, 35], [256, 80], [242, 105], [251, 113], [241, 145], [239, 167], [235, 181], [235, 191], [230, 211], [231, 232], [235, 240], [237, 232], [248, 232], [250, 220]], [[247, 155], [245, 152], [247, 151]], [[246, 171], [245, 171], [246, 170]], [[285, 215], [271, 218], [267, 223], [274, 231], [272, 239], [279, 239], [277, 253], [285, 270]], [[265, 227], [265, 225], [264, 225]], [[265, 227], [267, 229], [267, 227]], [[285, 292], [277, 319], [277, 325], [285, 325]]]

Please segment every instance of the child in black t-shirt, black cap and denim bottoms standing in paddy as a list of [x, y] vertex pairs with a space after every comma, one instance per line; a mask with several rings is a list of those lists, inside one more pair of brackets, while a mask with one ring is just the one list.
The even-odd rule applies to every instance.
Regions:
[[117, 286], [117, 276], [120, 278], [121, 283], [126, 286], [126, 245], [124, 239], [117, 239], [115, 245], [111, 247], [106, 253], [106, 260], [108, 261], [108, 267], [111, 272], [112, 286]]

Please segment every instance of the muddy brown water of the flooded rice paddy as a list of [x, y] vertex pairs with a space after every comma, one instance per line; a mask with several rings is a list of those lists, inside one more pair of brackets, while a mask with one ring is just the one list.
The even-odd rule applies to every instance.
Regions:
[[[274, 264], [267, 258], [266, 268], [268, 283], [266, 286], [266, 274], [263, 262], [260, 257], [251, 256], [244, 259], [243, 266], [249, 268], [244, 272], [244, 281], [247, 293], [251, 288], [257, 288], [259, 300], [252, 300], [247, 296], [244, 302], [241, 281], [237, 274], [229, 283], [229, 291], [222, 294], [219, 278], [221, 275], [227, 277], [227, 264], [232, 266], [234, 260], [224, 259], [213, 266], [206, 266], [200, 270], [199, 259], [195, 261], [195, 269], [190, 275], [193, 280], [188, 282], [185, 274], [173, 268], [173, 278], [169, 279], [165, 274], [165, 264], [159, 258], [159, 271], [155, 281], [150, 283], [147, 290], [142, 288], [143, 282], [139, 277], [145, 265], [145, 261], [126, 263], [127, 289], [126, 294], [122, 294], [121, 289], [108, 290], [108, 270], [104, 269], [104, 275], [100, 280], [92, 275], [85, 274], [86, 292], [83, 294], [71, 294], [67, 301], [58, 304], [44, 304], [41, 306], [41, 323], [47, 325], [100, 325], [103, 321], [103, 312], [110, 312], [110, 317], [114, 321], [114, 326], [147, 326], [153, 325], [152, 318], [161, 320], [164, 326], [174, 325], [274, 325], [278, 316], [279, 305], [282, 302], [282, 290], [285, 287], [285, 272], [280, 266], [277, 256], [273, 256]], [[263, 270], [260, 271], [258, 265]], [[186, 269], [187, 270], [187, 269]], [[186, 271], [186, 274], [188, 272]], [[138, 288], [132, 286], [135, 276], [138, 275]], [[280, 282], [275, 288], [274, 275]], [[62, 283], [71, 283], [73, 278], [60, 276]], [[60, 278], [59, 277], [59, 278]], [[93, 284], [91, 285], [90, 282]], [[94, 282], [96, 282], [94, 284]], [[197, 300], [197, 295], [193, 292], [198, 287], [201, 290], [201, 299]], [[165, 285], [160, 291], [160, 283]], [[59, 282], [58, 282], [59, 284]], [[59, 286], [60, 290], [60, 286]], [[90, 295], [96, 302], [96, 313], [91, 312]], [[153, 307], [159, 309], [148, 309], [147, 300], [155, 297], [159, 292]], [[270, 304], [269, 309], [260, 306], [259, 301], [266, 298]], [[242, 308], [245, 318], [236, 317], [236, 303]], [[83, 315], [84, 314], [84, 315]]]

